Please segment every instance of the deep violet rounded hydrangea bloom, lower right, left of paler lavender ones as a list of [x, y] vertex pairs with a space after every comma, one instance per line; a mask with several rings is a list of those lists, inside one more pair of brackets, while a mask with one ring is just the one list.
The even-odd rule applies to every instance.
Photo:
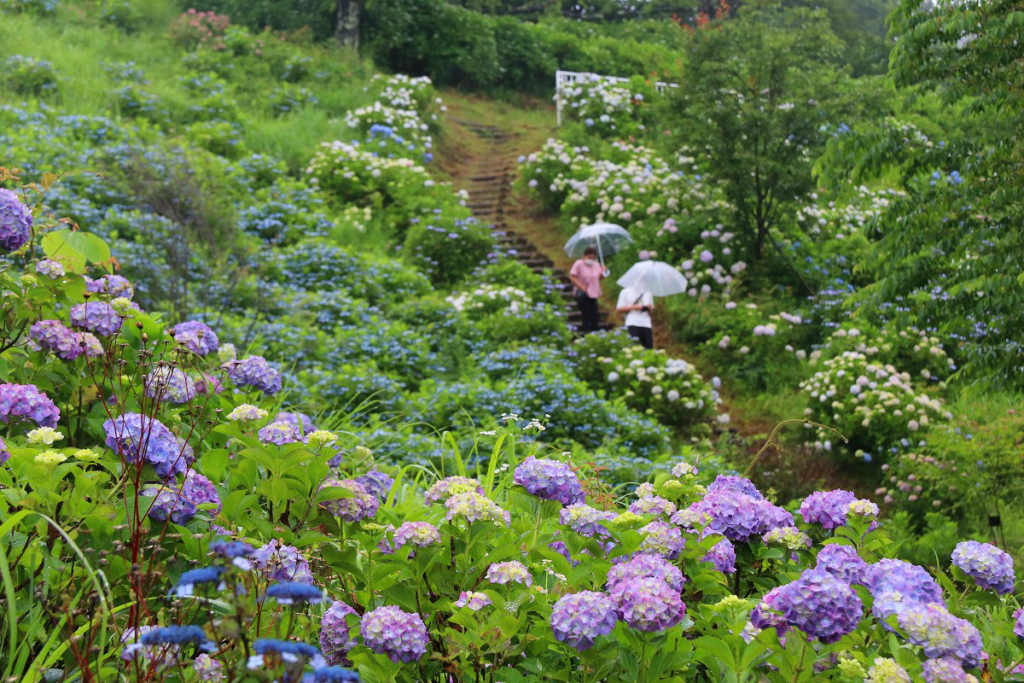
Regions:
[[[834, 643], [851, 633], [864, 615], [853, 589], [821, 569], [807, 569], [792, 584], [772, 589], [763, 603], [778, 612], [785, 626], [823, 643]], [[751, 622], [764, 628], [753, 616]], [[777, 627], [771, 620], [766, 625]]]

